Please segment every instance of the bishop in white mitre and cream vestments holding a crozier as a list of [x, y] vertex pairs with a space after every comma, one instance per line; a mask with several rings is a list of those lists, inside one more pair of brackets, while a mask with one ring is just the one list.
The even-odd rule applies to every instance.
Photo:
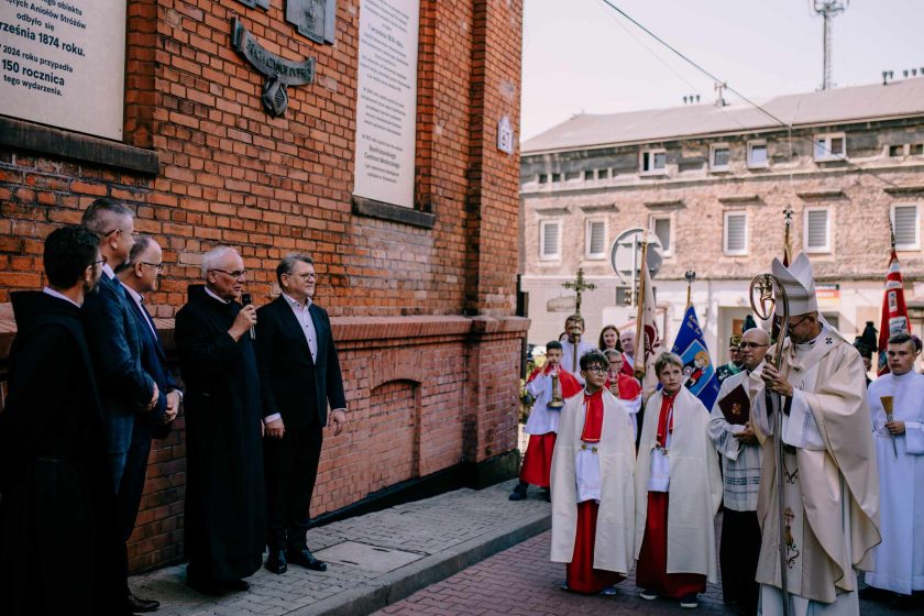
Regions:
[[[782, 364], [761, 378], [772, 406], [754, 409], [766, 436], [758, 517], [763, 532], [757, 581], [762, 614], [859, 614], [856, 570], [868, 570], [879, 543], [879, 481], [859, 353], [818, 314], [812, 265], [773, 260], [789, 297]], [[778, 306], [779, 308], [779, 306]], [[774, 349], [770, 349], [770, 356]], [[783, 413], [774, 435], [774, 414]], [[762, 437], [761, 437], [762, 438]], [[780, 519], [777, 438], [782, 439]], [[781, 593], [780, 525], [785, 538], [787, 593]], [[787, 597], [787, 598], [784, 598]]]

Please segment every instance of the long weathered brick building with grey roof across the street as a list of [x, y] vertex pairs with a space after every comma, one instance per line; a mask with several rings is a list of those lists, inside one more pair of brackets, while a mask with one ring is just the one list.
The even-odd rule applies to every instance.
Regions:
[[[558, 337], [573, 309], [561, 283], [579, 267], [597, 283], [582, 312], [596, 341], [603, 324], [634, 322], [617, 305], [625, 287], [610, 246], [632, 228], [664, 244], [654, 278], [662, 337], [673, 342], [693, 304], [718, 362], [750, 312], [747, 288], [791, 242], [814, 266], [820, 305], [848, 337], [879, 328], [889, 223], [921, 331], [924, 254], [924, 79], [779, 97], [773, 119], [743, 105], [578, 116], [522, 146], [521, 289], [529, 341]], [[774, 125], [776, 124], [776, 125]], [[790, 130], [791, 125], [791, 130]], [[917, 299], [915, 299], [917, 298]]]

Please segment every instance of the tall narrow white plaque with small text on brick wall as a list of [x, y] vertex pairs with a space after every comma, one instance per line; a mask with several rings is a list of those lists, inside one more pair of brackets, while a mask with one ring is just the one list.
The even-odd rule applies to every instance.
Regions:
[[419, 0], [360, 2], [353, 194], [407, 208], [414, 207], [419, 18]]

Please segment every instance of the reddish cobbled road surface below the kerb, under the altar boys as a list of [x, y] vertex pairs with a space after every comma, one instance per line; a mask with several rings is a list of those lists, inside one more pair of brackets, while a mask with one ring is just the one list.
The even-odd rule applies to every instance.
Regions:
[[[645, 601], [635, 575], [617, 585], [615, 596], [586, 596], [560, 588], [564, 565], [549, 561], [551, 531], [524, 541], [455, 575], [432, 584], [374, 616], [564, 616], [601, 614], [736, 615], [722, 603], [721, 586], [710, 584], [698, 609], [682, 609], [675, 601]], [[860, 602], [864, 616], [897, 614]]]

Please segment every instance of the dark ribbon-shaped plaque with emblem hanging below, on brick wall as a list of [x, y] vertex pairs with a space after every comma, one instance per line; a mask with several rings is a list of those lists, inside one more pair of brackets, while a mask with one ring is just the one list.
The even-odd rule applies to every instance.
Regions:
[[246, 29], [241, 20], [232, 22], [231, 47], [266, 76], [261, 100], [270, 116], [279, 118], [288, 108], [286, 86], [304, 86], [315, 81], [315, 58], [293, 62], [268, 52]]

